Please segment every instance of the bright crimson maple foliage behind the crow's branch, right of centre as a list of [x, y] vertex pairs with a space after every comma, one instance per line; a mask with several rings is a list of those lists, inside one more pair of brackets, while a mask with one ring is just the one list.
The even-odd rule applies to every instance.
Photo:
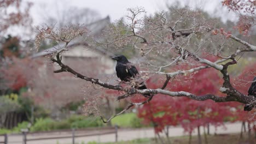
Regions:
[[[216, 61], [217, 57], [207, 56], [209, 61]], [[196, 67], [196, 66], [193, 66]], [[178, 69], [193, 68], [189, 65], [177, 65]], [[159, 88], [162, 85], [161, 77], [151, 78], [147, 83], [149, 87]], [[156, 85], [158, 83], [158, 85]], [[177, 76], [171, 80], [167, 89], [171, 91], [186, 91], [196, 95], [216, 94], [222, 95], [218, 91], [222, 86], [223, 80], [213, 68], [203, 69], [194, 74]], [[239, 104], [241, 107], [241, 104]], [[185, 131], [191, 133], [199, 126], [212, 124], [216, 127], [223, 125], [225, 118], [236, 117], [236, 120], [246, 117], [247, 113], [242, 112], [241, 108], [235, 112], [238, 103], [215, 103], [212, 100], [196, 101], [187, 97], [170, 97], [167, 95], [155, 95], [149, 104], [144, 104], [138, 110], [138, 116], [144, 119], [144, 123], [153, 123], [155, 133], [164, 129], [165, 125], [181, 124]], [[241, 115], [237, 115], [241, 113]], [[239, 117], [239, 118], [238, 118]]]

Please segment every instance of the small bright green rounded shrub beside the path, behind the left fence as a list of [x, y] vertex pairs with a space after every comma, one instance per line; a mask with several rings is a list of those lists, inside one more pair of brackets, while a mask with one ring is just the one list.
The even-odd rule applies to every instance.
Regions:
[[31, 127], [31, 131], [49, 131], [54, 130], [55, 121], [51, 118], [38, 118]]

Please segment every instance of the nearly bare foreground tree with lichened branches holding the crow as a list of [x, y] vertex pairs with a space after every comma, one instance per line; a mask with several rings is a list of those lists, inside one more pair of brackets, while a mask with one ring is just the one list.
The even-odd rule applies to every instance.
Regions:
[[[245, 1], [245, 3], [252, 4], [251, 1]], [[223, 4], [230, 9], [234, 9], [234, 7], [230, 6], [230, 4], [234, 5], [234, 3], [223, 1]], [[247, 8], [248, 5], [242, 5], [241, 7]], [[66, 65], [62, 62], [61, 53], [68, 51], [71, 46], [69, 43], [79, 35], [86, 33], [84, 31], [69, 28], [63, 34], [63, 29], [44, 27], [39, 29], [37, 37], [37, 41], [48, 38], [62, 41], [66, 44], [55, 52], [54, 56], [56, 57], [50, 58], [53, 63], [60, 66], [60, 69], [55, 70], [54, 73], [68, 72], [78, 79], [91, 82], [91, 85], [101, 86], [102, 91], [112, 89], [116, 94], [119, 94], [116, 98], [117, 100], [127, 99], [138, 94], [152, 94], [149, 98], [141, 101], [131, 100], [130, 105], [120, 113], [108, 119], [102, 117], [103, 122], [109, 122], [113, 117], [120, 115], [135, 105], [153, 103], [152, 99], [158, 97], [185, 97], [197, 100], [199, 101], [198, 103], [212, 100], [216, 103], [236, 101], [241, 104], [256, 105], [255, 98], [252, 95], [246, 95], [232, 85], [230, 71], [228, 70], [230, 65], [240, 62], [238, 59], [243, 53], [255, 55], [256, 46], [252, 45], [250, 41], [244, 40], [243, 37], [237, 37], [235, 35], [236, 31], [227, 31], [225, 27], [218, 27], [216, 21], [207, 19], [200, 10], [193, 10], [189, 7], [171, 7], [170, 11], [162, 11], [153, 16], [144, 16], [146, 11], [143, 8], [132, 8], [128, 9], [128, 11], [127, 21], [119, 21], [115, 25], [110, 25], [105, 33], [102, 34], [101, 40], [97, 40], [94, 43], [88, 41], [88, 43], [90, 42], [89, 46], [92, 48], [103, 46], [117, 53], [131, 53], [133, 55], [131, 57], [133, 59], [132, 62], [140, 67], [142, 79], [146, 83], [150, 77], [161, 77], [161, 81], [155, 81], [158, 85], [148, 86], [149, 89], [141, 90], [133, 88], [129, 84], [122, 86], [117, 85], [117, 82], [103, 81], [96, 77], [81, 74], [72, 68], [74, 65]], [[250, 17], [248, 20], [254, 21], [254, 9], [250, 11], [253, 11], [253, 13], [243, 13], [243, 15]], [[245, 32], [246, 29], [251, 31], [253, 25], [254, 23], [252, 22], [249, 27], [247, 25], [239, 27], [244, 27], [241, 32], [249, 37], [249, 33]], [[211, 61], [207, 59], [207, 56], [216, 58]], [[183, 67], [182, 65], [188, 65], [188, 67]], [[180, 69], [176, 69], [177, 67]], [[217, 86], [222, 94], [209, 89], [203, 93], [198, 93], [200, 89], [198, 89], [197, 85], [190, 85], [195, 89], [194, 91], [189, 91], [185, 87], [180, 89], [167, 87], [167, 85], [186, 86], [184, 81], [179, 81], [179, 77], [186, 77], [190, 74], [193, 77], [193, 74], [199, 73], [199, 71], [204, 74], [205, 70], [210, 69], [218, 72], [223, 78], [222, 83]], [[170, 81], [171, 79], [175, 79], [177, 82], [173, 83]], [[210, 86], [214, 83], [214, 80], [211, 80], [211, 76], [205, 75], [202, 79], [209, 80], [197, 81], [201, 86]], [[182, 100], [180, 103], [186, 103], [186, 101]], [[170, 105], [172, 105], [171, 102]]]

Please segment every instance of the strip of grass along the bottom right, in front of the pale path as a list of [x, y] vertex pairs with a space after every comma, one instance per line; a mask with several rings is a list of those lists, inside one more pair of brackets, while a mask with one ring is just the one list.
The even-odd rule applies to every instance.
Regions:
[[[254, 135], [252, 134], [252, 137]], [[165, 143], [167, 142], [166, 138], [163, 138]], [[188, 144], [189, 136], [178, 136], [178, 137], [170, 137], [171, 143], [178, 144]], [[132, 141], [119, 141], [119, 142], [107, 142], [107, 143], [97, 143], [97, 142], [89, 142], [89, 144], [156, 144], [161, 142], [155, 139], [138, 139]], [[197, 136], [192, 136], [191, 143], [197, 144]], [[202, 143], [206, 143], [205, 139], [202, 135]], [[207, 136], [207, 144], [249, 144], [248, 135], [243, 134], [243, 139], [240, 139], [240, 134], [223, 134], [223, 135], [208, 135]], [[252, 140], [251, 144], [256, 143], [256, 139]]]

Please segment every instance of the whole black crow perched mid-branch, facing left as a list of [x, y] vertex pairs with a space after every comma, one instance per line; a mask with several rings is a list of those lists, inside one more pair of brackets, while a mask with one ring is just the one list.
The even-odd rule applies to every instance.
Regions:
[[[117, 76], [121, 81], [130, 82], [132, 79], [139, 78], [138, 70], [134, 65], [132, 65], [124, 55], [119, 55], [112, 57], [112, 59], [117, 61], [115, 70], [117, 71]], [[136, 86], [138, 89], [147, 89], [144, 82], [139, 83]], [[144, 97], [150, 96], [150, 94], [145, 94]]]

